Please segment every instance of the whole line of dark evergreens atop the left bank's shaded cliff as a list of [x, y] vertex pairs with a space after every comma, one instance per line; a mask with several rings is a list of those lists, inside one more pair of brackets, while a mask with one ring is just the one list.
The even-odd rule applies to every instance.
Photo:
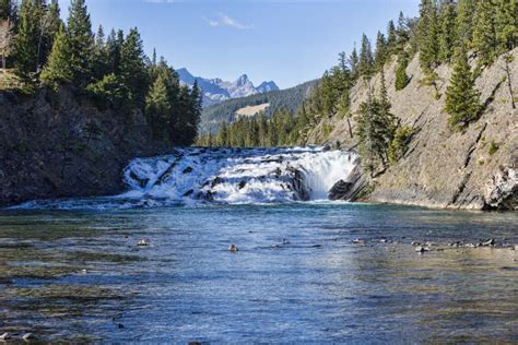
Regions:
[[[5, 29], [1, 29], [5, 28]], [[71, 0], [61, 21], [57, 0], [0, 0], [0, 53], [25, 92], [62, 85], [99, 107], [140, 109], [158, 141], [190, 145], [201, 115], [201, 91], [180, 86], [156, 52], [149, 58], [137, 27], [96, 34], [85, 0]]]

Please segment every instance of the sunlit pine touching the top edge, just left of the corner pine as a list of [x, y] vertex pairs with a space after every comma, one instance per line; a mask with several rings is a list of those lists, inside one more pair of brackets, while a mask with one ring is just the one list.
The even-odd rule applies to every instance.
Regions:
[[496, 8], [492, 0], [480, 0], [476, 7], [476, 21], [473, 28], [473, 49], [479, 66], [491, 64], [498, 51], [496, 36]]

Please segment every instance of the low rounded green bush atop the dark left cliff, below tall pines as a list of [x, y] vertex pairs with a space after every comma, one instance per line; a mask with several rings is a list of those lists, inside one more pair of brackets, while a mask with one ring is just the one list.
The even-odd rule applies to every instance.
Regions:
[[113, 73], [89, 84], [86, 91], [103, 107], [121, 107], [125, 105], [125, 100], [128, 99], [128, 88], [122, 80]]

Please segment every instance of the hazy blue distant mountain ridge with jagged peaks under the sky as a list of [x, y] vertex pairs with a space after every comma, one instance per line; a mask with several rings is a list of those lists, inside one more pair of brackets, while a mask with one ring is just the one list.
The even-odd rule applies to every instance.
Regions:
[[187, 69], [183, 68], [176, 71], [184, 85], [192, 86], [195, 81], [203, 91], [203, 106], [211, 106], [232, 98], [240, 98], [250, 95], [279, 91], [279, 86], [273, 81], [262, 82], [258, 87], [243, 74], [234, 82], [223, 81], [219, 78], [207, 79], [192, 75]]

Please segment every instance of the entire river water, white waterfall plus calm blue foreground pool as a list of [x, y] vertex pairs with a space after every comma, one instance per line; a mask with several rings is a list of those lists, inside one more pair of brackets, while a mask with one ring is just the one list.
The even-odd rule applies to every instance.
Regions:
[[[518, 342], [518, 252], [505, 248], [518, 245], [517, 213], [302, 202], [346, 179], [355, 157], [295, 151], [137, 159], [122, 195], [0, 211], [0, 334]], [[448, 246], [487, 238], [496, 246]], [[420, 254], [412, 241], [435, 245]]]

